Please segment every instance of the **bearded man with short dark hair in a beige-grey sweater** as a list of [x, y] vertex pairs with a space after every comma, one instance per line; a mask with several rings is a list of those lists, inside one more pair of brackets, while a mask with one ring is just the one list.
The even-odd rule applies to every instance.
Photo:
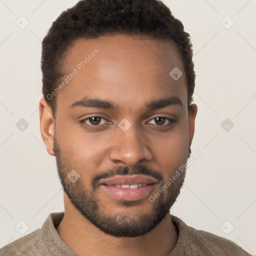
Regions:
[[197, 106], [192, 45], [158, 0], [82, 0], [42, 41], [40, 130], [65, 212], [0, 255], [249, 255], [169, 213]]

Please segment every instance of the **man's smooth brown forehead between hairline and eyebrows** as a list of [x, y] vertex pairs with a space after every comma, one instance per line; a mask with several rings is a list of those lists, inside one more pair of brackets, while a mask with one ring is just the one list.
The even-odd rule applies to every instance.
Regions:
[[[176, 68], [183, 73], [177, 80], [170, 75]], [[183, 63], [171, 40], [128, 35], [79, 38], [67, 51], [62, 71], [57, 108], [87, 96], [129, 108], [163, 96], [178, 96], [186, 104]]]

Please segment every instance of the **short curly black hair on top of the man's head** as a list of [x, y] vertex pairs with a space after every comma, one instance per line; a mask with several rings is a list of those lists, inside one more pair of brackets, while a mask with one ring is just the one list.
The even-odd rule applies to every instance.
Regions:
[[56, 96], [52, 92], [63, 76], [67, 49], [80, 37], [114, 34], [173, 40], [184, 64], [188, 106], [193, 101], [195, 74], [190, 35], [166, 5], [160, 0], [80, 0], [52, 22], [42, 40], [42, 93], [54, 119]]

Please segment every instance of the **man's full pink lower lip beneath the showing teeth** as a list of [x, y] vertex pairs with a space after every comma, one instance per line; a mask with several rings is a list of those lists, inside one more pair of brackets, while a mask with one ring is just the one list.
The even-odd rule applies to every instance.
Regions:
[[147, 184], [138, 188], [121, 188], [114, 185], [101, 184], [102, 188], [112, 197], [125, 201], [143, 199], [152, 191], [154, 184]]

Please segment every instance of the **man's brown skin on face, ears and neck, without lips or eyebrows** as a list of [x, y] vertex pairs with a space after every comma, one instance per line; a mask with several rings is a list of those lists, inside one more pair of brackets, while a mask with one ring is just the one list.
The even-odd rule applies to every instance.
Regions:
[[[149, 196], [189, 156], [197, 106], [187, 107], [183, 63], [170, 40], [101, 36], [76, 39], [66, 55], [63, 74], [69, 74], [95, 48], [99, 51], [95, 57], [57, 93], [55, 120], [45, 99], [39, 102], [41, 136], [47, 152], [56, 156], [64, 188], [65, 214], [56, 230], [80, 256], [167, 255], [178, 239], [169, 209], [184, 173], [154, 202]], [[174, 67], [183, 72], [176, 81], [169, 75]], [[118, 108], [70, 107], [85, 96], [111, 100]], [[173, 96], [182, 106], [145, 108], [152, 100]], [[92, 116], [103, 117], [93, 130], [89, 127], [96, 121], [84, 120]], [[157, 121], [159, 116], [176, 121]], [[123, 118], [131, 124], [126, 131], [118, 126]], [[66, 176], [72, 169], [80, 174], [75, 182]], [[158, 183], [140, 200], [117, 200], [103, 191], [100, 177], [124, 173], [157, 177]]]

